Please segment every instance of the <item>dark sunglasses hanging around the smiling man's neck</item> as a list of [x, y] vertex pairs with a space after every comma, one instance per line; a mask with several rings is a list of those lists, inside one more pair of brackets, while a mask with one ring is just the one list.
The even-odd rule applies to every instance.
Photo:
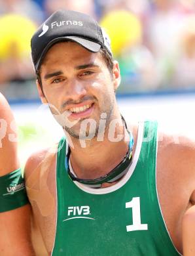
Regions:
[[73, 175], [73, 173], [71, 173], [71, 170], [69, 168], [69, 157], [71, 154], [71, 150], [68, 149], [67, 155], [65, 156], [65, 169], [67, 170], [67, 173], [72, 181], [78, 181], [82, 184], [86, 184], [89, 186], [100, 187], [101, 184], [103, 184], [104, 182], [117, 181], [118, 179], [120, 179], [120, 177], [122, 177], [128, 171], [127, 167], [130, 165], [130, 163], [132, 163], [133, 136], [132, 136], [132, 133], [130, 133], [130, 131], [128, 130], [128, 127], [126, 125], [126, 121], [125, 121], [124, 117], [122, 117], [122, 121], [124, 121], [126, 130], [128, 131], [128, 134], [130, 136], [128, 152], [124, 156], [123, 160], [120, 163], [118, 163], [118, 165], [112, 171], [110, 171], [109, 173], [107, 173], [106, 175], [104, 175], [102, 177], [99, 177], [96, 179], [80, 179], [80, 178], [75, 177], [75, 175]]

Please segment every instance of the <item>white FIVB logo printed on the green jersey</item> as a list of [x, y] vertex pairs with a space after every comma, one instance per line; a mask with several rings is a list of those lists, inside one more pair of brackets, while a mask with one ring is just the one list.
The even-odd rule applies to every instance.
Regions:
[[88, 205], [82, 206], [69, 206], [67, 208], [67, 219], [63, 221], [69, 221], [70, 219], [93, 219], [91, 217], [86, 217], [86, 215], [90, 215], [90, 207]]

